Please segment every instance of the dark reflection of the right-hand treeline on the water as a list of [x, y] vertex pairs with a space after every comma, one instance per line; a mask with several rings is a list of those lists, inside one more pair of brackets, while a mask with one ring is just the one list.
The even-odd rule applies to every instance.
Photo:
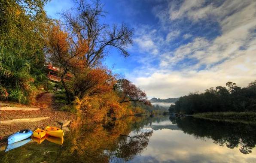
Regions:
[[234, 149], [240, 146], [243, 154], [249, 154], [256, 145], [255, 124], [210, 121], [192, 117], [170, 117], [170, 121], [195, 138], [213, 139], [213, 143]]

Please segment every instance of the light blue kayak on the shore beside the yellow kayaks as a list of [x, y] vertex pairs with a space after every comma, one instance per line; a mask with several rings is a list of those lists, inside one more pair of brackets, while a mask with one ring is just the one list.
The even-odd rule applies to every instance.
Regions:
[[27, 139], [32, 135], [31, 130], [20, 130], [20, 132], [12, 134], [8, 137], [8, 144], [19, 142], [21, 140]]

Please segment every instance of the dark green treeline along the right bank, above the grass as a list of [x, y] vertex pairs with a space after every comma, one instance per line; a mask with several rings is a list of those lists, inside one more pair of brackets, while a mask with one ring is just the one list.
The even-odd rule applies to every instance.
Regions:
[[180, 97], [169, 112], [203, 113], [203, 112], [256, 112], [256, 80], [245, 88], [238, 87], [233, 82], [227, 82], [226, 87], [217, 86], [205, 90], [204, 93], [190, 93]]

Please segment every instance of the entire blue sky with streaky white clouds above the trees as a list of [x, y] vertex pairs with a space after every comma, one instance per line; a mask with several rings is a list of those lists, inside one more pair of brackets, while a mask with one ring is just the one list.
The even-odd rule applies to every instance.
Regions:
[[[190, 92], [256, 80], [256, 0], [102, 0], [107, 24], [134, 29], [131, 54], [110, 51], [104, 61], [125, 75], [148, 98], [180, 97]], [[45, 10], [73, 7], [52, 0]]]

